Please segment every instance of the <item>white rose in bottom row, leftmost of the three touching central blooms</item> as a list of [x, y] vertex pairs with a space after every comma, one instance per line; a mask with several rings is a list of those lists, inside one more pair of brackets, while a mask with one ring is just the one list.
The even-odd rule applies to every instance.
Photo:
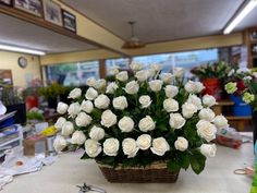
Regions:
[[139, 148], [134, 138], [125, 138], [122, 141], [122, 149], [124, 155], [127, 155], [127, 158], [132, 158], [136, 156]]

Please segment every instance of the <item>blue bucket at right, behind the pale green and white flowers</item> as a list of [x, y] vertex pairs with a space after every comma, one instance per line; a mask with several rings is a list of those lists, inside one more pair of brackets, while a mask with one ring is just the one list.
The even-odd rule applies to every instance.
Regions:
[[231, 100], [234, 102], [233, 116], [249, 117], [252, 116], [252, 107], [245, 104], [240, 96], [231, 95]]

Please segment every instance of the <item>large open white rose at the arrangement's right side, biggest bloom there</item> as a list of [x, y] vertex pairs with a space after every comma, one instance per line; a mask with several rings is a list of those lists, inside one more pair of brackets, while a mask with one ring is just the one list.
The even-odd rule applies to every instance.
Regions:
[[216, 138], [217, 128], [211, 124], [209, 121], [199, 120], [196, 124], [197, 134], [205, 138], [207, 142], [210, 142]]

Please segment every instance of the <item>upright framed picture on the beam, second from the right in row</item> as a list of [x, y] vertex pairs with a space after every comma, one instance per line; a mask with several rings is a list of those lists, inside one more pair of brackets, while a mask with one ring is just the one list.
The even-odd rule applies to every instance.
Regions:
[[46, 21], [62, 26], [62, 12], [59, 4], [44, 0], [44, 15]]

